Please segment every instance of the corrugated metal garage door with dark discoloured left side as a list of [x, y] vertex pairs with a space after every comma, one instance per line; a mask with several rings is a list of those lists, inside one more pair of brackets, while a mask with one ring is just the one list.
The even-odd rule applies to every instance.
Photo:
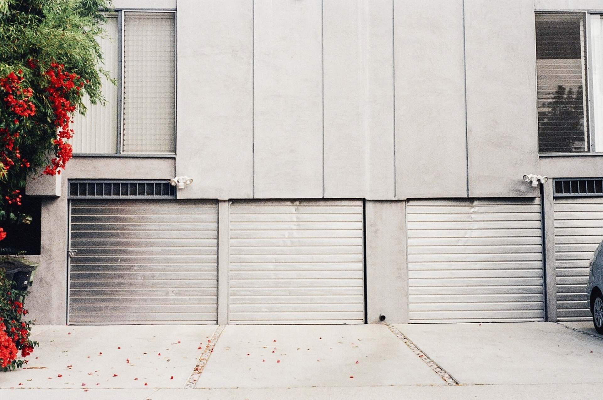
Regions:
[[74, 200], [69, 323], [216, 323], [215, 203]]

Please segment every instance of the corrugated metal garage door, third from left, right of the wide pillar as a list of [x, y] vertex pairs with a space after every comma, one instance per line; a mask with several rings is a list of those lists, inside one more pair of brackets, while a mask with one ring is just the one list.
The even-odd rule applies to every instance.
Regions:
[[411, 322], [544, 319], [540, 203], [409, 200]]

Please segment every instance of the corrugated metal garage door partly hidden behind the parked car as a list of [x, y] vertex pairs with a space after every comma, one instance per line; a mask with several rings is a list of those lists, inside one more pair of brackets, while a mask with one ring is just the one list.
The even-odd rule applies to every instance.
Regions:
[[589, 261], [603, 240], [603, 198], [555, 198], [557, 319], [591, 320]]

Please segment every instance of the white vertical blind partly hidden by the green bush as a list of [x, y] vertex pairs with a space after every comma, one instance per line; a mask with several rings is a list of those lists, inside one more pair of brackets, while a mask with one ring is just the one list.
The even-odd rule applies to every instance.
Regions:
[[[106, 37], [98, 37], [103, 49], [104, 66], [112, 78], [118, 77], [118, 20], [108, 17], [105, 24]], [[106, 104], [92, 104], [86, 96], [86, 116], [76, 113], [74, 116], [74, 137], [71, 144], [74, 153], [116, 153], [117, 151], [117, 118], [118, 87], [103, 78], [103, 95]]]

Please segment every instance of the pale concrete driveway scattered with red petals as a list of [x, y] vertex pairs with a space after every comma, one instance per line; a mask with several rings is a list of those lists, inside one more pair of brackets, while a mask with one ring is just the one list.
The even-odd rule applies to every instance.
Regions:
[[36, 326], [0, 399], [589, 399], [592, 323]]

